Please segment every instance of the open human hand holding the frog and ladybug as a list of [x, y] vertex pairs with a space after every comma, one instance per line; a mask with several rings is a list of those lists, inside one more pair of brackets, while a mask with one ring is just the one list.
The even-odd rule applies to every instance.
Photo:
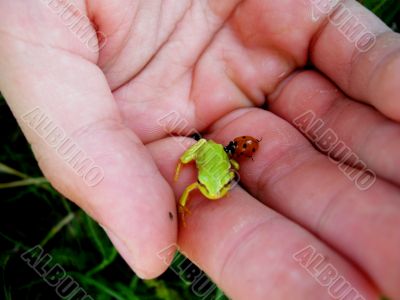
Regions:
[[[0, 90], [46, 177], [139, 276], [161, 274], [157, 253], [178, 241], [233, 299], [331, 299], [292, 258], [312, 245], [365, 299], [400, 298], [398, 34], [355, 1], [344, 4], [377, 35], [365, 53], [313, 20], [311, 1], [73, 3], [108, 37], [100, 52], [45, 1], [0, 2]], [[271, 112], [250, 108], [265, 98]], [[22, 121], [35, 107], [102, 166], [99, 185], [86, 186]], [[292, 125], [309, 109], [374, 169], [370, 190]], [[194, 174], [172, 183], [183, 148], [158, 122], [171, 112], [187, 121], [180, 134], [263, 138], [255, 162], [241, 164], [242, 186], [220, 201], [194, 196], [179, 234], [175, 197]]]

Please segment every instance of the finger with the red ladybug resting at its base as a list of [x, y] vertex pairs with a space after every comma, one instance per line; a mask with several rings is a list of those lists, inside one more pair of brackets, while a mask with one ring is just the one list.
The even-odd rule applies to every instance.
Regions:
[[254, 162], [241, 163], [244, 186], [327, 241], [383, 292], [398, 298], [400, 270], [393, 266], [400, 264], [400, 190], [380, 179], [368, 190], [359, 190], [346, 169], [341, 171], [290, 124], [269, 112], [248, 110], [226, 122], [212, 128], [218, 128], [217, 139], [238, 133], [262, 138]]

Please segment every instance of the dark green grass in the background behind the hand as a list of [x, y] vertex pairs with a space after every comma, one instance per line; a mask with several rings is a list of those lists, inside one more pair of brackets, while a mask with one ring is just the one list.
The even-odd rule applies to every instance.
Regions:
[[[398, 0], [363, 3], [389, 26], [399, 23]], [[0, 124], [0, 299], [58, 298], [55, 288], [21, 259], [35, 245], [41, 245], [53, 257], [52, 263], [60, 264], [96, 300], [200, 299], [190, 280], [172, 270], [184, 260], [180, 254], [174, 268], [156, 280], [135, 276], [103, 230], [42, 177], [1, 96]], [[226, 299], [217, 289], [207, 299], [212, 298]]]

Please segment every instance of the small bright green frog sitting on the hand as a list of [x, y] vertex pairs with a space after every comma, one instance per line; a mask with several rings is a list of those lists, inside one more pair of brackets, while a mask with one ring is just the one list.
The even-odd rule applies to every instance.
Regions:
[[224, 146], [212, 140], [200, 139], [187, 149], [180, 157], [176, 167], [175, 181], [178, 180], [182, 164], [196, 162], [198, 169], [197, 182], [189, 185], [179, 200], [179, 214], [185, 225], [185, 214], [190, 214], [186, 204], [189, 193], [195, 189], [211, 200], [224, 197], [231, 189], [235, 178], [235, 170], [239, 170], [239, 164], [231, 159], [224, 150]]

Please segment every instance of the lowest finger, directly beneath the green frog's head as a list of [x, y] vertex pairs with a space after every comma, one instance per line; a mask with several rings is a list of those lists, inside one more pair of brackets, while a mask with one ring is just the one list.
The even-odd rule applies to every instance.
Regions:
[[[183, 149], [172, 138], [148, 145], [163, 175], [173, 184]], [[168, 153], [166, 156], [165, 153]], [[187, 166], [174, 185], [176, 196], [196, 180]], [[301, 227], [265, 207], [240, 187], [217, 201], [192, 193], [187, 227], [181, 228], [183, 252], [233, 299], [331, 299], [326, 287], [307, 273], [293, 255], [312, 245], [365, 299], [377, 293], [340, 255]], [[328, 258], [329, 257], [329, 258]], [[189, 272], [189, 271], [188, 271]]]

